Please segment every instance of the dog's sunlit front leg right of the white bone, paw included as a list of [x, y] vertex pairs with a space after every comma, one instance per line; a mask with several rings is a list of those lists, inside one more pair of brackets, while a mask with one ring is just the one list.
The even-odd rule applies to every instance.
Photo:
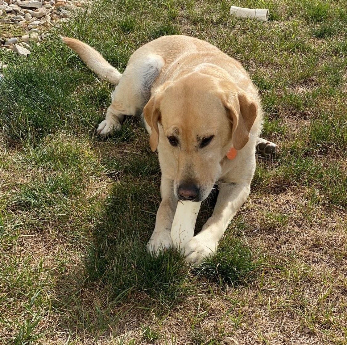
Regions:
[[205, 257], [215, 253], [229, 222], [246, 201], [250, 191], [249, 183], [221, 183], [219, 188], [212, 216], [184, 248], [187, 262], [199, 264]]

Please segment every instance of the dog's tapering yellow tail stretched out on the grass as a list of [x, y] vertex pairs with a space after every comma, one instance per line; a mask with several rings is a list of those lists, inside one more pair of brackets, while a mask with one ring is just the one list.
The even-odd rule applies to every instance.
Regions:
[[107, 80], [113, 85], [118, 85], [122, 74], [117, 69], [111, 66], [95, 49], [88, 46], [79, 40], [69, 37], [61, 39], [92, 69], [101, 79]]

